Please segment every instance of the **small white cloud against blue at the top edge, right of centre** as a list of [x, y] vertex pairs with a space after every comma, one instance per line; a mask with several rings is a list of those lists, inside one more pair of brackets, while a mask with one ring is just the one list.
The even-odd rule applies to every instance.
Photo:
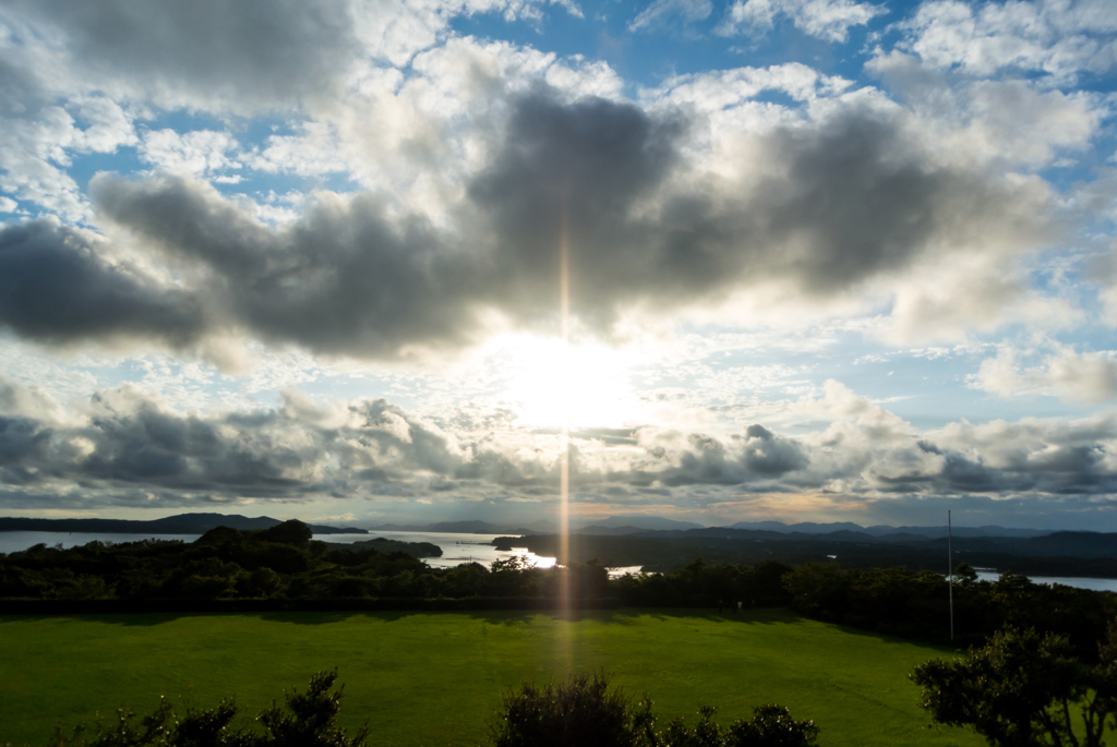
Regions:
[[771, 31], [776, 18], [786, 16], [803, 33], [844, 44], [850, 27], [865, 26], [886, 12], [880, 6], [850, 0], [735, 0], [716, 31], [722, 36], [758, 36]]

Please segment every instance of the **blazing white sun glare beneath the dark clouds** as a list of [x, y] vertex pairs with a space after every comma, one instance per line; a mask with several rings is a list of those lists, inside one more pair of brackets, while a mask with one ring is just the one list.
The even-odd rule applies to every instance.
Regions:
[[624, 351], [519, 336], [504, 363], [500, 399], [537, 428], [619, 428], [637, 418], [632, 361]]

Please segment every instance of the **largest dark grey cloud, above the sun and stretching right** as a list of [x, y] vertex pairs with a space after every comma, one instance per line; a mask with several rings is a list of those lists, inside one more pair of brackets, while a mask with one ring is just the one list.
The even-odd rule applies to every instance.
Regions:
[[[614, 103], [518, 103], [470, 191], [502, 266], [517, 270], [518, 307], [556, 276], [564, 209], [572, 306], [605, 320], [626, 304], [669, 307], [773, 278], [837, 294], [1042, 220], [1013, 190], [935, 166], [898, 122], [867, 109], [758, 138], [762, 155], [737, 164], [737, 182], [688, 167], [687, 130], [678, 115]], [[766, 175], [754, 184], [756, 169]]]

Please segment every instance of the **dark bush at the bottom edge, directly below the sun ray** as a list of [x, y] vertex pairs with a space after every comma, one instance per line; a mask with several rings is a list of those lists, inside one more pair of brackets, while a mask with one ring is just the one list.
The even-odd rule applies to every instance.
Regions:
[[715, 709], [698, 709], [699, 720], [681, 718], [656, 731], [651, 701], [634, 702], [604, 674], [575, 674], [540, 689], [525, 683], [506, 695], [489, 729], [491, 747], [813, 747], [819, 729], [796, 721], [783, 706], [761, 706], [748, 721], [723, 728]]

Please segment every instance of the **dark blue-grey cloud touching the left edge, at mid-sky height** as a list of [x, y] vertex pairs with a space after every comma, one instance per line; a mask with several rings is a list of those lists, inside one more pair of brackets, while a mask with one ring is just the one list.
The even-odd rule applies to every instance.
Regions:
[[98, 257], [83, 233], [50, 220], [0, 229], [0, 324], [35, 339], [195, 338], [197, 297]]

